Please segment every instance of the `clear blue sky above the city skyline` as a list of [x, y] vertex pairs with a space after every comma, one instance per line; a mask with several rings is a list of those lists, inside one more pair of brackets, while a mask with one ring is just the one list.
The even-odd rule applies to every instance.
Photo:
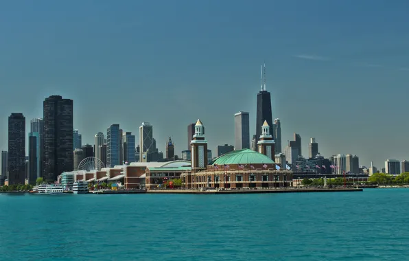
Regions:
[[110, 124], [154, 126], [160, 150], [187, 148], [187, 124], [209, 147], [233, 144], [233, 115], [255, 133], [266, 60], [283, 146], [309, 137], [329, 157], [378, 167], [409, 159], [409, 2], [1, 1], [0, 149], [8, 115], [42, 117], [43, 100], [74, 100], [74, 127], [93, 143]]

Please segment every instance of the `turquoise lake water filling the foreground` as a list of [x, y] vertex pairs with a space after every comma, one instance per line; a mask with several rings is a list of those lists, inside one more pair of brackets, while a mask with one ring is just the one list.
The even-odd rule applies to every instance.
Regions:
[[0, 260], [408, 260], [409, 189], [0, 194]]

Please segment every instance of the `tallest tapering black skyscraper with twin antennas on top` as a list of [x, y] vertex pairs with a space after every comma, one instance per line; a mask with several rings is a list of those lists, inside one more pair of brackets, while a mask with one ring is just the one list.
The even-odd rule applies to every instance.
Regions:
[[[264, 73], [261, 68], [261, 90], [257, 93], [257, 121], [256, 121], [256, 141], [261, 136], [261, 126], [267, 121], [268, 126], [272, 126], [272, 111], [270, 92], [266, 91], [266, 65], [264, 64]], [[274, 137], [273, 137], [274, 139]]]

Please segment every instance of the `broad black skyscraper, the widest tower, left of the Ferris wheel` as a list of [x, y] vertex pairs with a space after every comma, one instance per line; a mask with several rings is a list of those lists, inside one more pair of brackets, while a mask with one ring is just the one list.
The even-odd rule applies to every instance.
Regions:
[[62, 172], [73, 170], [73, 100], [52, 95], [43, 104], [43, 178], [56, 181]]

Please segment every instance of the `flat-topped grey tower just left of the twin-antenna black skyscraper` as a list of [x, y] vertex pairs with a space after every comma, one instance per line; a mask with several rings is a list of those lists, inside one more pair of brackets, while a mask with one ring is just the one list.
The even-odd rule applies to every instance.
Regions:
[[234, 115], [235, 150], [250, 148], [250, 119], [248, 113], [239, 111]]

